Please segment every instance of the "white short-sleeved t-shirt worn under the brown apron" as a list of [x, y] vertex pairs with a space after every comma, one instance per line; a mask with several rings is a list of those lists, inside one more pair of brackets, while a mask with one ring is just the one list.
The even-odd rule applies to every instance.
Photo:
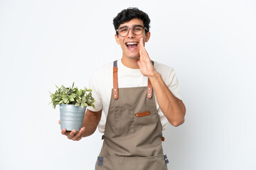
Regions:
[[[139, 69], [130, 69], [128, 67], [125, 67], [124, 64], [122, 64], [121, 60], [117, 60], [117, 67], [119, 88], [148, 85], [148, 77], [145, 77]], [[154, 68], [156, 69], [156, 72], [159, 72], [159, 74], [161, 74], [161, 78], [165, 82], [166, 86], [168, 86], [172, 94], [174, 94], [174, 96], [176, 96], [177, 98], [181, 99], [181, 96], [178, 94], [179, 86], [174, 69], [158, 62], [154, 62]], [[95, 98], [95, 108], [87, 107], [87, 109], [95, 112], [102, 110], [102, 117], [98, 125], [98, 129], [102, 133], [104, 133], [105, 131], [105, 124], [107, 120], [107, 112], [110, 106], [112, 88], [113, 62], [105, 65], [104, 67], [101, 67], [100, 69], [96, 69], [95, 72], [92, 74], [89, 84], [89, 89], [92, 89], [92, 96]], [[156, 109], [159, 113], [161, 124], [164, 130], [166, 128], [168, 120], [165, 117], [164, 113], [161, 112], [157, 101]]]

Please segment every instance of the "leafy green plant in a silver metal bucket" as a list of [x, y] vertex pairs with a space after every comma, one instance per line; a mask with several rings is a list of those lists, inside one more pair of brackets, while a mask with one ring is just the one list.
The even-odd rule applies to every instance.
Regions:
[[[85, 116], [87, 106], [95, 108], [95, 99], [92, 97], [91, 89], [80, 89], [65, 86], [56, 86], [58, 90], [54, 94], [50, 93], [53, 108], [60, 105], [60, 129], [77, 130], [82, 128], [82, 122]], [[50, 104], [49, 103], [49, 104]]]

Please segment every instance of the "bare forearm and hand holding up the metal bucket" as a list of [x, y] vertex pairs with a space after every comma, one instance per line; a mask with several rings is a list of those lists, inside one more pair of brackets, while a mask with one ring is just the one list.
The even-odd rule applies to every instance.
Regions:
[[61, 134], [66, 135], [69, 140], [75, 140], [75, 141], [81, 140], [82, 137], [90, 136], [95, 132], [97, 125], [100, 122], [101, 115], [102, 115], [102, 110], [93, 112], [87, 109], [85, 113], [85, 118], [82, 123], [83, 127], [79, 132], [76, 132], [76, 130], [72, 130], [68, 132], [67, 130], [63, 129], [61, 130]]

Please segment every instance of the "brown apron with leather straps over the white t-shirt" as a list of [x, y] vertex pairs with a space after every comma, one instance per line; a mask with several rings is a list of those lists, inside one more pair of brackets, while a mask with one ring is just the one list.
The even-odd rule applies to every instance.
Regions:
[[110, 108], [95, 169], [166, 170], [169, 162], [163, 154], [162, 125], [150, 81], [132, 88], [117, 84], [114, 61]]

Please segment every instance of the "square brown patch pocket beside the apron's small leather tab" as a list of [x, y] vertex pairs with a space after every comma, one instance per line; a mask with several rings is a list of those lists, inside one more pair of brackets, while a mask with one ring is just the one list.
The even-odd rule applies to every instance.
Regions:
[[132, 108], [114, 108], [114, 133], [134, 133]]

